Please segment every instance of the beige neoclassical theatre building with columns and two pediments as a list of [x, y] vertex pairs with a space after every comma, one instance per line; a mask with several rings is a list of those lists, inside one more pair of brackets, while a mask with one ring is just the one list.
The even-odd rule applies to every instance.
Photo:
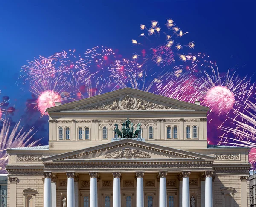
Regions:
[[49, 145], [8, 150], [8, 207], [248, 207], [249, 148], [207, 145], [208, 111], [131, 88], [56, 103]]

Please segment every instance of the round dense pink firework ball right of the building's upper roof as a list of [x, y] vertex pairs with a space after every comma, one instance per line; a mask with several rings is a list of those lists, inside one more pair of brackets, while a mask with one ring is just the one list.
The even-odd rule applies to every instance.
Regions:
[[235, 95], [225, 86], [214, 86], [205, 95], [204, 103], [212, 112], [226, 114], [233, 109]]

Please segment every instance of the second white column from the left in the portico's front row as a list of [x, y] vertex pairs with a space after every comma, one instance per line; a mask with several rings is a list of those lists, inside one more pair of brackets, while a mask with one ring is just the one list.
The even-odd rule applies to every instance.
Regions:
[[74, 172], [67, 172], [67, 207], [75, 206], [75, 175]]

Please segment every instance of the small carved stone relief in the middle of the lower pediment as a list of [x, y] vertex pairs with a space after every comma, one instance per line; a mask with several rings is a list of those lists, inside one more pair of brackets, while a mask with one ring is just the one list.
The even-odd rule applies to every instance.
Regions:
[[132, 148], [125, 148], [121, 150], [115, 150], [105, 155], [107, 159], [116, 159], [116, 158], [151, 158], [148, 152], [142, 150], [136, 150]]

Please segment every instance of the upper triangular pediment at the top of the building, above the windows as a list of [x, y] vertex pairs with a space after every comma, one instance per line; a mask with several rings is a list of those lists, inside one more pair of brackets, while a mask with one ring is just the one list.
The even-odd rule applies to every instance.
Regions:
[[145, 111], [145, 110], [196, 110], [208, 111], [209, 108], [178, 101], [131, 88], [119, 89], [79, 101], [73, 101], [47, 109], [57, 111]]

